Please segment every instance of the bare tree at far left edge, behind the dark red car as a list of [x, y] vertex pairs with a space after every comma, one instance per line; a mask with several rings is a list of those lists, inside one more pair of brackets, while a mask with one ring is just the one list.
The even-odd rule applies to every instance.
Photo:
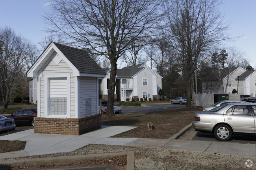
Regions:
[[8, 107], [13, 81], [25, 64], [25, 42], [10, 27], [0, 28], [0, 90], [5, 109]]

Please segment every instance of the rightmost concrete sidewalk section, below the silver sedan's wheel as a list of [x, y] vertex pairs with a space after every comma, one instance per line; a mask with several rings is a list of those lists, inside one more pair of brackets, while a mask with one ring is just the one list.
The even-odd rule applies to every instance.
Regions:
[[206, 152], [245, 157], [256, 157], [256, 145], [228, 142], [213, 142], [209, 146], [209, 148], [207, 148]]

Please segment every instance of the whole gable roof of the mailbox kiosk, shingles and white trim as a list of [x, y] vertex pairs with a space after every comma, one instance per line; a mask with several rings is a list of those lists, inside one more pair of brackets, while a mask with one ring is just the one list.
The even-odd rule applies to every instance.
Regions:
[[106, 77], [106, 72], [98, 66], [86, 51], [56, 42], [51, 42], [47, 46], [40, 57], [27, 71], [28, 77], [39, 76], [40, 70], [43, 69], [48, 60], [57, 54], [72, 69], [73, 76]]

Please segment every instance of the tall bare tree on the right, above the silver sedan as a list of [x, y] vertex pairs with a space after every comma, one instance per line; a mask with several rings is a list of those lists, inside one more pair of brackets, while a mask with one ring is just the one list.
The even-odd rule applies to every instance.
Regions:
[[[165, 2], [167, 28], [182, 75], [187, 80], [187, 99], [191, 99], [191, 79], [200, 53], [225, 40], [226, 24], [217, 7], [218, 0], [169, 0]], [[191, 106], [187, 102], [187, 106]]]

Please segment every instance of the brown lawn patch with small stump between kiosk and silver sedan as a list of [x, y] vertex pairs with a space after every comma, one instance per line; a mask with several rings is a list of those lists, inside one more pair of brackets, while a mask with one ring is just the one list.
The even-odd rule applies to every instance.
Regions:
[[[102, 115], [102, 125], [137, 126], [137, 128], [113, 137], [143, 137], [168, 139], [194, 120], [195, 112], [202, 108], [180, 108], [176, 110], [116, 114], [115, 117]], [[154, 124], [154, 130], [148, 130], [147, 122]]]

